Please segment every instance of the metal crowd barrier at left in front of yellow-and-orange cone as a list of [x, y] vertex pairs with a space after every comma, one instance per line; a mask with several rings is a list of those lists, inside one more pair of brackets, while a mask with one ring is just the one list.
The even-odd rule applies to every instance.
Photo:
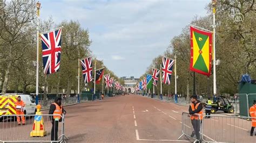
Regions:
[[[3, 116], [0, 122], [0, 142], [60, 142], [64, 141], [64, 116], [52, 121], [53, 115], [24, 115], [25, 124], [18, 125], [18, 115]], [[22, 123], [22, 116], [19, 117]], [[43, 122], [42, 122], [43, 121]], [[52, 136], [52, 139], [51, 139]], [[64, 141], [65, 142], [65, 141]]]

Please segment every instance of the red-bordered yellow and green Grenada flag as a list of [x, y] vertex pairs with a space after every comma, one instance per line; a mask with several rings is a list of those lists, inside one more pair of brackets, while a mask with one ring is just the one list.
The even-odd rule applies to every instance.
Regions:
[[190, 26], [190, 70], [206, 76], [211, 75], [212, 33]]

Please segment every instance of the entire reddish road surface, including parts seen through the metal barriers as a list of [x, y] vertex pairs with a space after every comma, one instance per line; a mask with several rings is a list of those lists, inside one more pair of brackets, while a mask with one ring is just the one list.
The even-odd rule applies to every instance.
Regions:
[[[183, 112], [188, 107], [166, 103], [141, 95], [125, 95], [105, 98], [100, 101], [66, 106], [65, 135], [68, 142], [191, 142], [193, 127], [191, 120]], [[47, 114], [48, 111], [43, 113]], [[181, 120], [184, 116], [185, 120]], [[0, 123], [0, 138], [17, 140], [49, 140], [51, 123], [49, 117], [44, 118], [47, 134], [43, 138], [31, 138], [29, 133], [33, 120], [26, 119], [26, 125]], [[61, 131], [61, 125], [59, 130]], [[204, 119], [204, 140], [256, 142], [250, 137], [250, 121], [230, 118], [228, 116]], [[59, 134], [60, 134], [59, 131]], [[15, 132], [15, 133], [14, 133]], [[17, 133], [18, 132], [18, 133]], [[2, 134], [2, 136], [1, 136]], [[0, 139], [1, 140], [1, 139]]]

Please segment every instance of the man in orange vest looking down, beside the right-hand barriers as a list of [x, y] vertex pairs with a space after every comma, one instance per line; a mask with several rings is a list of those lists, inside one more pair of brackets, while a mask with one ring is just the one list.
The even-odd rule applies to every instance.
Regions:
[[190, 113], [190, 119], [191, 123], [193, 125], [194, 131], [191, 134], [191, 137], [194, 137], [194, 134], [196, 134], [196, 139], [200, 140], [200, 124], [203, 119], [203, 104], [201, 104], [200, 101], [197, 100], [197, 95], [191, 96], [191, 103], [189, 108]]

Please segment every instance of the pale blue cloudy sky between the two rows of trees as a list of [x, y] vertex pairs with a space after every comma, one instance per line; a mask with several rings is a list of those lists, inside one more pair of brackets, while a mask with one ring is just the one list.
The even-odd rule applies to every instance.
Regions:
[[117, 76], [140, 77], [152, 60], [194, 16], [205, 16], [206, 0], [41, 0], [41, 19], [78, 20], [90, 32], [90, 49]]

